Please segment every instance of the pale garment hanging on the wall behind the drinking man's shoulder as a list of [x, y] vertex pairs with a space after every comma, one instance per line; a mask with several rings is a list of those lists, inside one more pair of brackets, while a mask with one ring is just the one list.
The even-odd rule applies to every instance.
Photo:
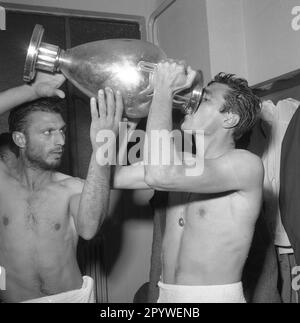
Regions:
[[293, 253], [279, 209], [280, 158], [282, 140], [298, 106], [294, 99], [279, 101], [276, 106], [272, 101], [264, 101], [261, 121], [254, 128], [248, 147], [264, 164], [264, 216], [280, 254]]

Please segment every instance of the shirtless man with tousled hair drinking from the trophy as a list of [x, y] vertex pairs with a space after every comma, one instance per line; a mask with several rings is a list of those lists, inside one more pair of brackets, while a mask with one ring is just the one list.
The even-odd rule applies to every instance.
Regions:
[[[148, 140], [153, 130], [172, 131], [174, 93], [189, 87], [194, 77], [195, 71], [182, 63], [157, 65]], [[264, 170], [260, 158], [235, 148], [235, 140], [252, 128], [259, 111], [260, 101], [245, 80], [220, 73], [181, 126], [204, 132], [204, 147], [196, 147], [192, 159], [179, 165], [165, 156], [174, 147], [148, 143], [146, 160], [155, 154], [170, 157], [170, 164], [145, 162], [116, 171], [117, 188], [170, 192], [158, 302], [245, 302], [241, 276], [261, 208]], [[187, 175], [191, 161], [201, 164], [197, 158], [204, 160], [203, 171]]]

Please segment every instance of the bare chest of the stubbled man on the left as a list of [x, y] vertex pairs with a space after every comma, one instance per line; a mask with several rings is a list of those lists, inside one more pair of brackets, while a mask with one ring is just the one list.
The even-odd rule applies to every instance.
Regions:
[[60, 232], [68, 221], [69, 196], [60, 188], [28, 192], [8, 185], [0, 194], [0, 230], [6, 233]]

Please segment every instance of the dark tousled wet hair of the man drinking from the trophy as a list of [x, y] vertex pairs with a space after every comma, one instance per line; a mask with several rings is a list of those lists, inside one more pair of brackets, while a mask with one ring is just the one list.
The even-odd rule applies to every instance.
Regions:
[[256, 123], [261, 101], [248, 85], [245, 79], [237, 78], [234, 74], [219, 73], [208, 84], [225, 84], [229, 87], [225, 94], [225, 103], [220, 112], [232, 112], [240, 117], [239, 123], [234, 127], [234, 139], [239, 139], [243, 134], [251, 130]]

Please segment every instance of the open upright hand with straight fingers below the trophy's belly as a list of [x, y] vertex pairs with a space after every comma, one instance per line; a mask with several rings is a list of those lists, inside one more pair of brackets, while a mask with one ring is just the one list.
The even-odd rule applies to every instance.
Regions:
[[106, 88], [105, 91], [99, 90], [98, 108], [95, 98], [91, 98], [90, 105], [92, 116], [90, 137], [93, 149], [101, 146], [102, 139], [106, 139], [108, 136], [114, 137], [107, 138], [108, 146], [110, 143], [115, 144], [124, 110], [121, 92], [117, 91], [114, 94], [110, 88]]

